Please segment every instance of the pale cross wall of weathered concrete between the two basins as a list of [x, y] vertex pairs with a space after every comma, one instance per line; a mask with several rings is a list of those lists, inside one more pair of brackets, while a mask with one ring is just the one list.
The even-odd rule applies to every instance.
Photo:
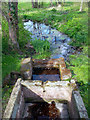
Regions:
[[[43, 100], [54, 100], [54, 99], [62, 99], [70, 101], [71, 98], [71, 88], [69, 86], [62, 86], [60, 84], [60, 81], [58, 81], [58, 84], [54, 82], [44, 83], [44, 85], [38, 85], [37, 83], [35, 85], [30, 84], [31, 82], [23, 82], [22, 85], [24, 91], [24, 97], [25, 98], [32, 98], [33, 101], [36, 98], [36, 100], [39, 101], [41, 98]], [[38, 87], [37, 87], [38, 86]], [[32, 93], [33, 92], [33, 93]], [[35, 94], [34, 94], [35, 93]], [[38, 97], [39, 96], [39, 97]]]

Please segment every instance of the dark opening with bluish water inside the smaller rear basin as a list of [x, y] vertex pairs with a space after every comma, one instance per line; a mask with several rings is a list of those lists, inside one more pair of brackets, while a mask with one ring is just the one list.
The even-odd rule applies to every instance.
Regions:
[[60, 72], [57, 68], [33, 68], [32, 80], [60, 81]]

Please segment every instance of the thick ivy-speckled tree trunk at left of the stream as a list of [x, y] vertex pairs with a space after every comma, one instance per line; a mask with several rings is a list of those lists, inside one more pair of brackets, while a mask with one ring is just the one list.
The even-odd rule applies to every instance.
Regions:
[[9, 26], [8, 44], [12, 49], [19, 52], [18, 1], [14, 2], [13, 0], [9, 0], [8, 3], [4, 2], [0, 11], [7, 20]]

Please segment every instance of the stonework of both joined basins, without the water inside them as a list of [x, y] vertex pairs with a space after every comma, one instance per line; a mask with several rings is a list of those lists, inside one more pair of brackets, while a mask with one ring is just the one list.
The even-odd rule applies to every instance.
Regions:
[[[31, 80], [32, 66], [33, 68], [58, 68], [61, 81]], [[23, 79], [17, 80], [3, 118], [24, 118], [27, 116], [28, 107], [32, 106], [32, 102], [50, 104], [53, 101], [58, 107], [56, 109], [59, 110], [61, 119], [88, 118], [77, 85], [74, 79], [71, 79], [71, 72], [66, 68], [63, 58], [32, 59], [32, 61], [31, 58], [25, 58], [21, 65], [21, 75]], [[66, 81], [67, 79], [70, 79], [70, 82]]]

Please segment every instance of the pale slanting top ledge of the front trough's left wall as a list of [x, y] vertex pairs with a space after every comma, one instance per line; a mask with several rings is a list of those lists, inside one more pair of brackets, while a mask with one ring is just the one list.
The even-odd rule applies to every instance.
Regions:
[[3, 118], [16, 118], [16, 112], [18, 110], [18, 104], [19, 104], [20, 95], [21, 95], [20, 82], [21, 82], [21, 79], [18, 79], [15, 84], [15, 87], [13, 88], [13, 91], [11, 93]]

